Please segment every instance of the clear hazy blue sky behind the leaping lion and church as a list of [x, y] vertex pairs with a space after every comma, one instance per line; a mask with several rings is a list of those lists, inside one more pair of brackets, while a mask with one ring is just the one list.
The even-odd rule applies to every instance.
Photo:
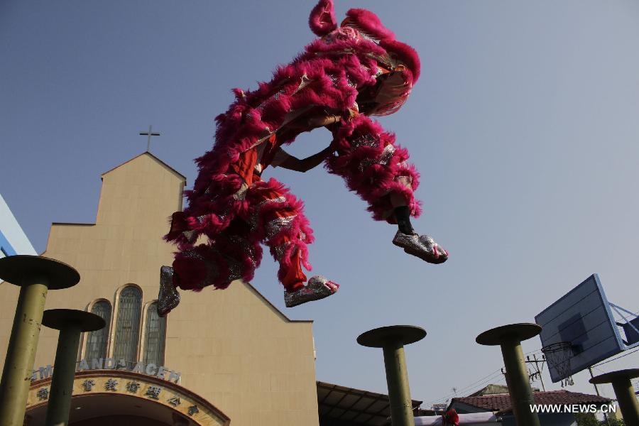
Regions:
[[[35, 249], [51, 222], [94, 222], [100, 173], [143, 152], [149, 124], [162, 133], [151, 151], [192, 183], [229, 89], [255, 88], [312, 40], [313, 5], [0, 2], [0, 192]], [[381, 351], [355, 338], [415, 324], [428, 335], [407, 348], [410, 384], [429, 404], [503, 383], [496, 373], [464, 390], [502, 366], [476, 335], [532, 322], [591, 273], [611, 301], [639, 310], [639, 4], [337, 0], [337, 16], [351, 7], [378, 13], [422, 58], [408, 104], [381, 123], [422, 173], [414, 225], [451, 258], [405, 255], [395, 229], [322, 168], [273, 170], [306, 202], [314, 272], [342, 285], [286, 309], [273, 261], [253, 281], [286, 315], [315, 320], [317, 379], [386, 392]], [[318, 130], [290, 151], [328, 142]], [[572, 389], [593, 393], [587, 376]]]

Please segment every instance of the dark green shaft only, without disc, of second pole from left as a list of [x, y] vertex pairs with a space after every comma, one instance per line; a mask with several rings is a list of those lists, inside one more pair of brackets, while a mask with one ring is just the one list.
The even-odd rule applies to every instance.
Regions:
[[69, 423], [80, 333], [80, 324], [68, 324], [60, 330], [47, 405], [46, 426], [66, 426]]

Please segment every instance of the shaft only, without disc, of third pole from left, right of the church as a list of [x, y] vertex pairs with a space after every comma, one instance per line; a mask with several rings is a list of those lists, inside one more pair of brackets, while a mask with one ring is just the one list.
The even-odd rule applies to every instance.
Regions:
[[404, 345], [401, 342], [388, 342], [383, 346], [383, 353], [393, 426], [415, 426]]

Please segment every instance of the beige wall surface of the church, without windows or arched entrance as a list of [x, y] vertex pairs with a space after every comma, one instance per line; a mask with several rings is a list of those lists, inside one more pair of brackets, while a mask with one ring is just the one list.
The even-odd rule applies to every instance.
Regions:
[[[145, 153], [102, 179], [95, 224], [51, 226], [43, 256], [69, 263], [82, 278], [50, 291], [47, 309], [85, 310], [99, 298], [114, 304], [127, 283], [140, 286], [143, 305], [158, 296], [160, 266], [170, 265], [173, 251], [161, 236], [181, 208], [184, 178]], [[0, 284], [0, 363], [17, 298], [18, 288]], [[43, 327], [35, 367], [53, 364], [57, 338]], [[312, 323], [288, 320], [240, 281], [227, 290], [182, 292], [168, 316], [164, 364], [231, 425], [318, 425]]]

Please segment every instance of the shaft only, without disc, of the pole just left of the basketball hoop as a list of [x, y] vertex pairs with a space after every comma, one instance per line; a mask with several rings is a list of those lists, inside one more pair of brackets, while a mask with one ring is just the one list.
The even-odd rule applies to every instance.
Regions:
[[540, 426], [537, 413], [532, 413], [530, 405], [535, 403], [528, 383], [528, 371], [519, 341], [505, 341], [501, 344], [501, 354], [506, 366], [506, 383], [510, 393], [510, 403], [517, 426]]

